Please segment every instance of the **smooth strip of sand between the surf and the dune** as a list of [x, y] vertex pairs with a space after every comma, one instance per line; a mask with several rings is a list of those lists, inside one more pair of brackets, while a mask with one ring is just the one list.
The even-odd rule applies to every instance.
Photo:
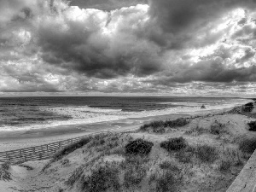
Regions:
[[134, 131], [140, 125], [160, 119], [178, 119], [183, 117], [203, 116], [206, 114], [223, 113], [231, 108], [197, 110], [193, 113], [171, 113], [165, 115], [148, 116], [143, 118], [119, 119], [89, 125], [60, 125], [30, 131], [0, 131], [0, 152], [29, 148], [47, 143], [83, 137], [106, 131]]

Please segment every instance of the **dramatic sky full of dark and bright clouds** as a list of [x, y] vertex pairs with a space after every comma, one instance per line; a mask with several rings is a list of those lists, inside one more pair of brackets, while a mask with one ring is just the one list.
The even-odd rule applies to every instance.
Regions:
[[0, 0], [0, 96], [255, 96], [256, 0]]

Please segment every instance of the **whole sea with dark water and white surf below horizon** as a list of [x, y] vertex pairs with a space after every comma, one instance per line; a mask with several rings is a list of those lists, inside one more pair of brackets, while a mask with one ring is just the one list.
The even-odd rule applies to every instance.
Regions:
[[[93, 125], [121, 119], [201, 113], [251, 102], [230, 97], [51, 96], [1, 97], [0, 131]], [[201, 109], [205, 105], [206, 109]]]

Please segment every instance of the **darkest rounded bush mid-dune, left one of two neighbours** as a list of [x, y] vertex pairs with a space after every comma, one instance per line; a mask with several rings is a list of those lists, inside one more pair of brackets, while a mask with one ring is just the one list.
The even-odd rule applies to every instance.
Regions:
[[149, 154], [154, 143], [141, 138], [131, 141], [125, 145], [126, 154]]

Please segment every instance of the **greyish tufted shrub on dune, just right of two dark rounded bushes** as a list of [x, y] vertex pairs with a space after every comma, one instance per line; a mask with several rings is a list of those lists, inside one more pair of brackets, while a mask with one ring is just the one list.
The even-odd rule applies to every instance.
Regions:
[[208, 145], [198, 145], [195, 148], [196, 158], [202, 162], [213, 162], [218, 159], [218, 152], [216, 148]]

